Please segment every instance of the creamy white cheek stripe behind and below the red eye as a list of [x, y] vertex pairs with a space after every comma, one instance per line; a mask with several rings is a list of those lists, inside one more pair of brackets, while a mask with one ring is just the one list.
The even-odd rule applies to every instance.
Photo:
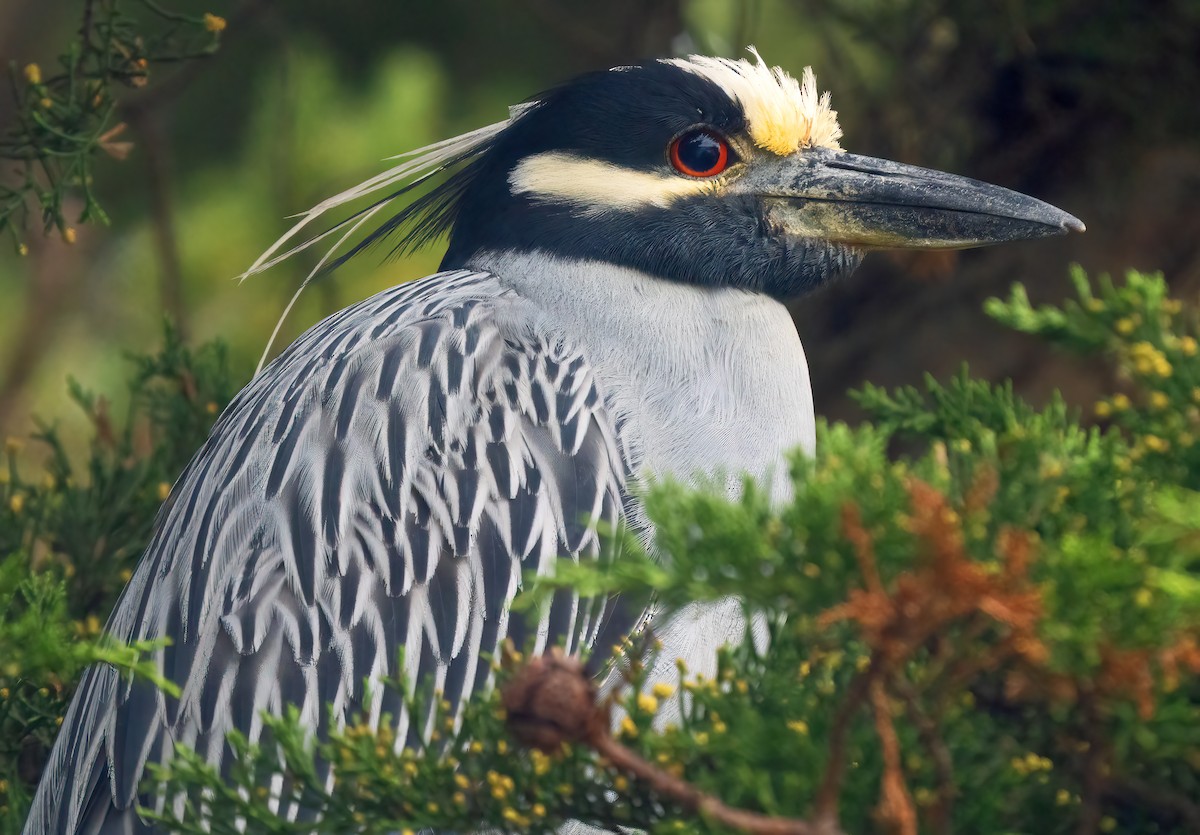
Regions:
[[542, 203], [566, 203], [584, 214], [666, 209], [682, 198], [715, 193], [720, 178], [692, 180], [678, 174], [655, 174], [588, 160], [562, 151], [546, 151], [522, 160], [509, 174], [514, 194]]

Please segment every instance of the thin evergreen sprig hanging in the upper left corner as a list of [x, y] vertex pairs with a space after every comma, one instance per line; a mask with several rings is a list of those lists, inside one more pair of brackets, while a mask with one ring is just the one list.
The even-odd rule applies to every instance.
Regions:
[[58, 228], [67, 242], [76, 234], [64, 215], [68, 194], [83, 194], [79, 223], [108, 222], [92, 193], [92, 164], [101, 151], [115, 158], [128, 154], [128, 143], [119, 140], [125, 126], [116, 124], [118, 90], [144, 88], [152, 65], [212, 54], [226, 26], [215, 14], [179, 14], [152, 0], [138, 5], [152, 24], [119, 0], [85, 0], [79, 35], [59, 56], [56, 72], [10, 65], [17, 113], [0, 137], [0, 157], [19, 162], [22, 179], [0, 185], [0, 233], [7, 229], [20, 252], [31, 199], [42, 226]]

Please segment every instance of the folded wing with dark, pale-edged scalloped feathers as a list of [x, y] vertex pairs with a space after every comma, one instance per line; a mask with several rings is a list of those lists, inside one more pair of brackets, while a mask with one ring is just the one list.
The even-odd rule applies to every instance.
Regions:
[[[538, 623], [509, 613], [523, 571], [598, 558], [589, 521], [614, 524], [628, 501], [586, 360], [523, 305], [486, 274], [432, 276], [330, 317], [246, 386], [108, 626], [170, 638], [155, 660], [181, 695], [90, 669], [26, 833], [149, 831], [134, 813], [155, 803], [138, 795], [146, 764], [184, 744], [227, 768], [226, 734], [259, 740], [264, 710], [298, 705], [325, 733], [326, 703], [346, 721], [365, 683], [403, 672], [457, 715], [506, 636], [575, 650], [631, 625], [571, 594]], [[427, 739], [432, 715], [394, 695], [372, 725], [385, 713], [397, 744]]]

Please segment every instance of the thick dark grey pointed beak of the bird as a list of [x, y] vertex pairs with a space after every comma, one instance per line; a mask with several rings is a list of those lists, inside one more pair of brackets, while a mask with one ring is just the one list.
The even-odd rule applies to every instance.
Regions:
[[962, 248], [1084, 232], [1079, 218], [1000, 186], [824, 148], [756, 161], [737, 191], [785, 234], [864, 248]]

